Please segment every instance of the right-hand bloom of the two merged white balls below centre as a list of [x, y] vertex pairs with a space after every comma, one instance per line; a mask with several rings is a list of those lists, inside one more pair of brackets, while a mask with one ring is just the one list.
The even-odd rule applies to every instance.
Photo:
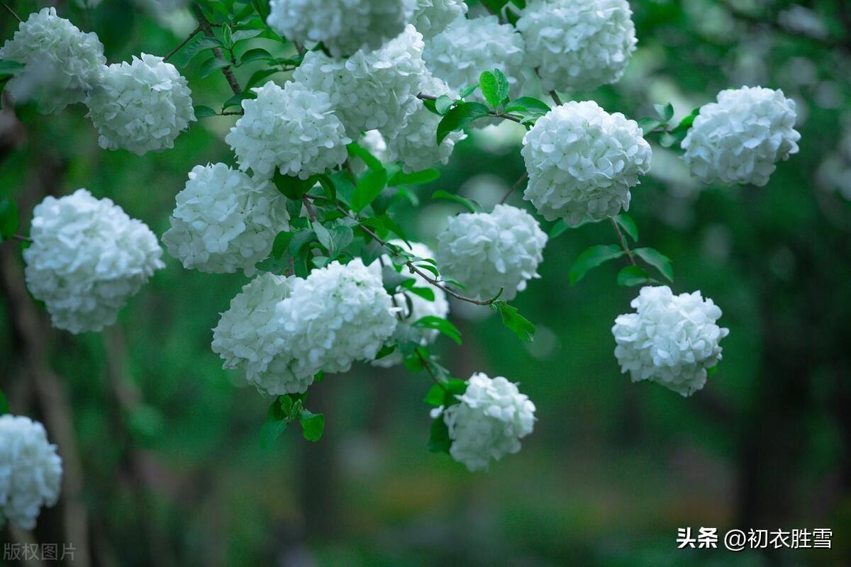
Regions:
[[300, 376], [345, 372], [352, 362], [373, 360], [397, 326], [380, 275], [360, 258], [332, 262], [294, 281], [292, 293], [277, 304], [277, 317]]

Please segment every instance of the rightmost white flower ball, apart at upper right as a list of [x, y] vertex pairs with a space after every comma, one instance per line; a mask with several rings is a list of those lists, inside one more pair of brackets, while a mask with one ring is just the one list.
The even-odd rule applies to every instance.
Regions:
[[795, 101], [780, 89], [742, 87], [700, 107], [683, 139], [683, 159], [704, 183], [762, 186], [774, 164], [797, 154]]

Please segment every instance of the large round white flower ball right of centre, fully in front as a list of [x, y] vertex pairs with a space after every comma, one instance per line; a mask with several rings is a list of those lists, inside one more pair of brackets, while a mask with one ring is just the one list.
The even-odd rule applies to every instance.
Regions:
[[541, 116], [523, 138], [524, 199], [547, 220], [576, 226], [627, 210], [630, 188], [650, 169], [637, 122], [596, 102], [568, 102]]

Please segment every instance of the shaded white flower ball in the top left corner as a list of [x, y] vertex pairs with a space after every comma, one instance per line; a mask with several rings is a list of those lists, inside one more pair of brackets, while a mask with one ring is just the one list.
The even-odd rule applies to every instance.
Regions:
[[20, 23], [14, 37], [0, 48], [0, 60], [25, 65], [6, 90], [19, 102], [37, 99], [38, 110], [45, 114], [83, 102], [100, 82], [106, 64], [97, 34], [83, 33], [52, 7]]

